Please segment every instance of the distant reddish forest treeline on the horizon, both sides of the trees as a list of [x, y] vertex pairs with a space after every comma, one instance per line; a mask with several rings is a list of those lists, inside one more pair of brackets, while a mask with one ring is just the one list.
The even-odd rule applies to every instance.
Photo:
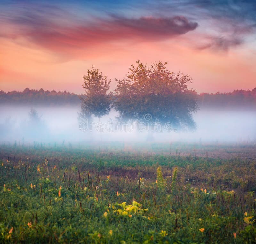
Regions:
[[[79, 105], [79, 95], [70, 92], [44, 91], [26, 88], [23, 92], [0, 91], [0, 104], [20, 105]], [[201, 93], [198, 95], [199, 107], [256, 107], [256, 88], [235, 90], [228, 93]]]

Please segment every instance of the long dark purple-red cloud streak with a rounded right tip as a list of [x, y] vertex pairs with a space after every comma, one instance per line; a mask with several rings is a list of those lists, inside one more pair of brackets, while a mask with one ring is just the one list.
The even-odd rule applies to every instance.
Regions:
[[[57, 7], [21, 8], [13, 15], [0, 16], [14, 28], [0, 35], [30, 42], [52, 51], [70, 52], [72, 48], [88, 48], [93, 45], [116, 41], [157, 41], [185, 34], [198, 24], [183, 16], [124, 18], [110, 15], [94, 18], [90, 22], [77, 19]], [[72, 52], [72, 51], [71, 51]]]

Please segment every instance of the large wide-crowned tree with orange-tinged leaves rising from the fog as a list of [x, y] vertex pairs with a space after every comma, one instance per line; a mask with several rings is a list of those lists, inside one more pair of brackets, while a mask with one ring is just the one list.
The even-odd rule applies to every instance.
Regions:
[[173, 129], [195, 128], [192, 113], [197, 111], [197, 93], [187, 87], [192, 79], [170, 72], [167, 63], [159, 61], [151, 67], [136, 63], [126, 78], [116, 79], [114, 108], [119, 111], [119, 118], [168, 122]]

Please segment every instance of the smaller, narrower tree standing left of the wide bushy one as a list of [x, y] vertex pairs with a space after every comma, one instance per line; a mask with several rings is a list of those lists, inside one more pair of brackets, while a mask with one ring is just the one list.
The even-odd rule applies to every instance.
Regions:
[[99, 70], [92, 68], [84, 75], [83, 88], [84, 96], [80, 96], [82, 100], [81, 112], [85, 116], [94, 115], [102, 117], [107, 115], [111, 109], [111, 93], [107, 94], [111, 80], [107, 81], [107, 77], [103, 76]]

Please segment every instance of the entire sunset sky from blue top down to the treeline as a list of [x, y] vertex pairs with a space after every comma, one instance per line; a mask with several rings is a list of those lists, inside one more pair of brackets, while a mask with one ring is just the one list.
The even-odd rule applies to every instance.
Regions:
[[136, 60], [167, 62], [190, 88], [256, 86], [255, 0], [0, 2], [0, 90], [83, 93], [93, 65], [122, 79]]

